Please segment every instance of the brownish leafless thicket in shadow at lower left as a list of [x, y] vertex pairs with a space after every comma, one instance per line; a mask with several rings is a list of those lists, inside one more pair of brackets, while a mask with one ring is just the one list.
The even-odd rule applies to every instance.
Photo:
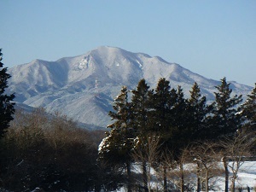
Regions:
[[1, 140], [0, 186], [10, 191], [100, 189], [104, 168], [96, 160], [103, 135], [43, 108], [16, 110]]

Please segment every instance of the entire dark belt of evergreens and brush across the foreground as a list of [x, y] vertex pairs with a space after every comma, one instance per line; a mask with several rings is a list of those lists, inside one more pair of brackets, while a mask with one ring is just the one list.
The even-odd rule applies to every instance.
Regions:
[[1, 191], [208, 191], [221, 175], [235, 191], [255, 155], [256, 84], [242, 102], [221, 79], [208, 103], [197, 83], [185, 98], [164, 78], [154, 89], [142, 79], [113, 100], [108, 131], [88, 131], [44, 108], [15, 111], [0, 67]]

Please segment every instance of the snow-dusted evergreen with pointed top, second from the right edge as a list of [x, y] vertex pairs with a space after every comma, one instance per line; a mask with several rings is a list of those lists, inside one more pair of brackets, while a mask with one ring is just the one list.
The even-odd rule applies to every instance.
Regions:
[[212, 117], [207, 137], [216, 139], [222, 136], [232, 136], [241, 127], [241, 116], [236, 106], [242, 101], [241, 96], [231, 96], [232, 90], [226, 79], [216, 86], [215, 101], [212, 103]]

